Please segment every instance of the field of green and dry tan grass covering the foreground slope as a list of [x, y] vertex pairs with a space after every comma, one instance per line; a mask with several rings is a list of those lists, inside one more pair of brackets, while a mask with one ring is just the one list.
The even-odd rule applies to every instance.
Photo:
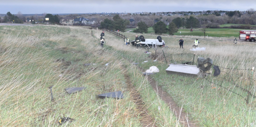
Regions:
[[[59, 126], [61, 117], [75, 119], [62, 126], [183, 126], [170, 110], [172, 105], [164, 103], [149, 79], [141, 76], [151, 66], [160, 70], [151, 76], [156, 81], [153, 85], [161, 86], [183, 107], [188, 121], [198, 126], [256, 125], [256, 99], [250, 97], [246, 104], [247, 92], [234, 85], [248, 89], [252, 83], [255, 95], [255, 75], [251, 77], [250, 70], [220, 68], [219, 77], [206, 78], [168, 75], [168, 64], [193, 60], [192, 43], [185, 40], [182, 50], [179, 39], [163, 37], [169, 47], [163, 49], [166, 64], [161, 48], [150, 49], [153, 55], [149, 56], [146, 49], [125, 46], [123, 39], [107, 32], [101, 48], [100, 33], [67, 26], [0, 26], [0, 126]], [[254, 44], [200, 40], [200, 47], [206, 51], [196, 55], [209, 57], [220, 67], [256, 67], [256, 56], [251, 55], [256, 53]], [[143, 61], [148, 62], [131, 64]], [[96, 65], [83, 66], [86, 63]], [[48, 89], [52, 85], [54, 101]], [[68, 95], [67, 87], [86, 89]], [[124, 99], [96, 97], [113, 91], [122, 91]]]

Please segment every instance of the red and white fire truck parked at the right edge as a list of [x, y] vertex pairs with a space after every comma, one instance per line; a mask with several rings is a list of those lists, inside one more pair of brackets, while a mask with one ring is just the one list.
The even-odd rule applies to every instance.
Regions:
[[256, 40], [256, 31], [251, 31], [251, 30], [240, 31], [239, 39], [240, 40], [245, 40], [245, 41], [255, 42], [255, 40]]

